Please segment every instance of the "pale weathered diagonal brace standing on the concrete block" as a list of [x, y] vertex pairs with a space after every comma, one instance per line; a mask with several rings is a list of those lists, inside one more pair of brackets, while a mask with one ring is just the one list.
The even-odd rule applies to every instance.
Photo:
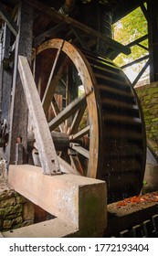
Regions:
[[25, 91], [29, 113], [33, 120], [37, 149], [43, 172], [47, 175], [60, 174], [55, 146], [48, 129], [46, 116], [37, 92], [37, 86], [26, 57], [19, 56], [18, 70]]

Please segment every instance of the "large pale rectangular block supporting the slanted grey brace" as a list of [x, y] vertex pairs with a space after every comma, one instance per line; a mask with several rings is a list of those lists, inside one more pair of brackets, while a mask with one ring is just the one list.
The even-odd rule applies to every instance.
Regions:
[[106, 183], [83, 176], [47, 176], [33, 165], [10, 165], [8, 181], [40, 208], [79, 230], [96, 234], [107, 226]]

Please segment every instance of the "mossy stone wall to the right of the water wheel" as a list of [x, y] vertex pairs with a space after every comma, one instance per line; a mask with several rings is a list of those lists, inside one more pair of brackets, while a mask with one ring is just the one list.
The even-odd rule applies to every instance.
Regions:
[[148, 144], [158, 155], [158, 81], [136, 88], [142, 103]]

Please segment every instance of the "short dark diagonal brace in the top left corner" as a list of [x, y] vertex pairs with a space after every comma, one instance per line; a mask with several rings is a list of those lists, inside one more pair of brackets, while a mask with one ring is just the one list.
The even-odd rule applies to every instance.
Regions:
[[15, 36], [17, 36], [17, 26], [14, 20], [12, 20], [11, 16], [6, 12], [4, 6], [0, 3], [0, 16], [2, 16], [3, 20], [6, 22], [7, 26], [13, 32]]

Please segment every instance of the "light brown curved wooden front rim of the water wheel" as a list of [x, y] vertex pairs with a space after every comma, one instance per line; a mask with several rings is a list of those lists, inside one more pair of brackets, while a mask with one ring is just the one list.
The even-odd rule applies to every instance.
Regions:
[[[93, 76], [92, 70], [88, 60], [84, 57], [82, 52], [62, 39], [50, 39], [44, 42], [37, 48], [37, 56], [47, 51], [47, 49], [58, 49], [65, 53], [66, 56], [72, 61], [73, 65], [79, 72], [79, 77], [82, 81], [84, 91], [86, 94], [87, 107], [89, 112], [90, 122], [90, 153], [89, 164], [86, 171], [86, 176], [96, 178], [101, 164], [100, 151], [100, 135], [101, 135], [101, 114], [100, 114], [100, 95], [97, 90], [96, 80]], [[96, 100], [98, 99], [98, 100]], [[43, 100], [42, 100], [43, 101]], [[44, 103], [44, 101], [43, 101]], [[47, 111], [47, 110], [46, 110]], [[52, 129], [50, 123], [50, 130]], [[70, 140], [74, 134], [70, 133]], [[77, 148], [76, 148], [77, 149]], [[62, 164], [62, 159], [59, 159]], [[79, 173], [78, 173], [79, 174]]]

